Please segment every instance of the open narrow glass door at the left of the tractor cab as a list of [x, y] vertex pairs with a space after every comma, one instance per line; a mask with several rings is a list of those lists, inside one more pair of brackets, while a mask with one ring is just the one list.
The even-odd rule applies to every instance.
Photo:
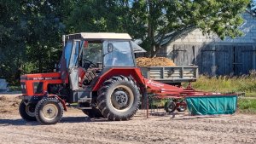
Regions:
[[73, 40], [73, 47], [71, 50], [70, 60], [68, 62], [68, 72], [69, 72], [69, 80], [70, 80], [70, 88], [73, 90], [79, 89], [79, 49], [80, 49], [80, 41]]

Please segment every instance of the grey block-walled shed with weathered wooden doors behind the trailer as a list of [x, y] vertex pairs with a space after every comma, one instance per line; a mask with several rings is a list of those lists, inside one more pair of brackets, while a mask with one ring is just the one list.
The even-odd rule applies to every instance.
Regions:
[[172, 59], [177, 66], [197, 65], [201, 74], [241, 75], [256, 69], [256, 17], [242, 14], [244, 36], [236, 39], [203, 35], [199, 29], [160, 49], [158, 56]]

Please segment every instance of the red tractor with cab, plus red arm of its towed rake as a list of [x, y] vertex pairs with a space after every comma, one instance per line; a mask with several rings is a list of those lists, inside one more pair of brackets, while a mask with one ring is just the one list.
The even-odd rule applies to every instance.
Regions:
[[70, 34], [63, 43], [57, 72], [20, 77], [19, 111], [26, 121], [56, 124], [73, 103], [90, 118], [128, 120], [149, 93], [174, 100], [213, 95], [144, 78], [136, 66], [135, 43], [126, 33]]

